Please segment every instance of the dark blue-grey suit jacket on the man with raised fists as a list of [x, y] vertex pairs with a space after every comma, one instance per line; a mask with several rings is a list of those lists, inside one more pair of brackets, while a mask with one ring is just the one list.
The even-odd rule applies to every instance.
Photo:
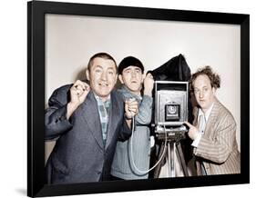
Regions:
[[69, 120], [66, 118], [70, 85], [57, 89], [46, 109], [46, 140], [58, 137], [46, 163], [47, 183], [87, 183], [109, 179], [111, 163], [119, 140], [131, 134], [124, 120], [122, 96], [111, 93], [108, 137], [103, 144], [97, 101], [92, 92]]

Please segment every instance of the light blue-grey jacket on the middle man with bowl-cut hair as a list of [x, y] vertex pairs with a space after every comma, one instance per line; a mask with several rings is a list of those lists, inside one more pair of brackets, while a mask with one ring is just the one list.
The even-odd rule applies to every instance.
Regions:
[[145, 172], [149, 168], [150, 132], [148, 124], [151, 122], [153, 99], [148, 95], [144, 95], [141, 99], [138, 95], [130, 93], [125, 86], [119, 89], [119, 92], [125, 98], [135, 98], [138, 101], [139, 109], [135, 116], [136, 126], [132, 139], [130, 137], [128, 141], [117, 144], [111, 174], [125, 180], [147, 179], [148, 173], [139, 173], [138, 170]]

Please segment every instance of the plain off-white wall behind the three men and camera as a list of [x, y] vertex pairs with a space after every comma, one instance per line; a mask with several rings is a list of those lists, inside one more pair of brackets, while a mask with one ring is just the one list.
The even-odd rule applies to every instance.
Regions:
[[46, 102], [57, 87], [85, 74], [98, 52], [113, 55], [117, 63], [134, 55], [146, 70], [183, 54], [191, 73], [211, 65], [220, 74], [217, 97], [234, 115], [240, 146], [240, 31], [240, 25], [46, 15]]

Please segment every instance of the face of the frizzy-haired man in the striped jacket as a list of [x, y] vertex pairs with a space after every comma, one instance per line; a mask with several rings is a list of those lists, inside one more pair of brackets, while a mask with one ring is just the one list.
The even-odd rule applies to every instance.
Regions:
[[203, 112], [206, 112], [214, 102], [216, 89], [211, 87], [206, 74], [200, 74], [193, 83], [194, 94]]

